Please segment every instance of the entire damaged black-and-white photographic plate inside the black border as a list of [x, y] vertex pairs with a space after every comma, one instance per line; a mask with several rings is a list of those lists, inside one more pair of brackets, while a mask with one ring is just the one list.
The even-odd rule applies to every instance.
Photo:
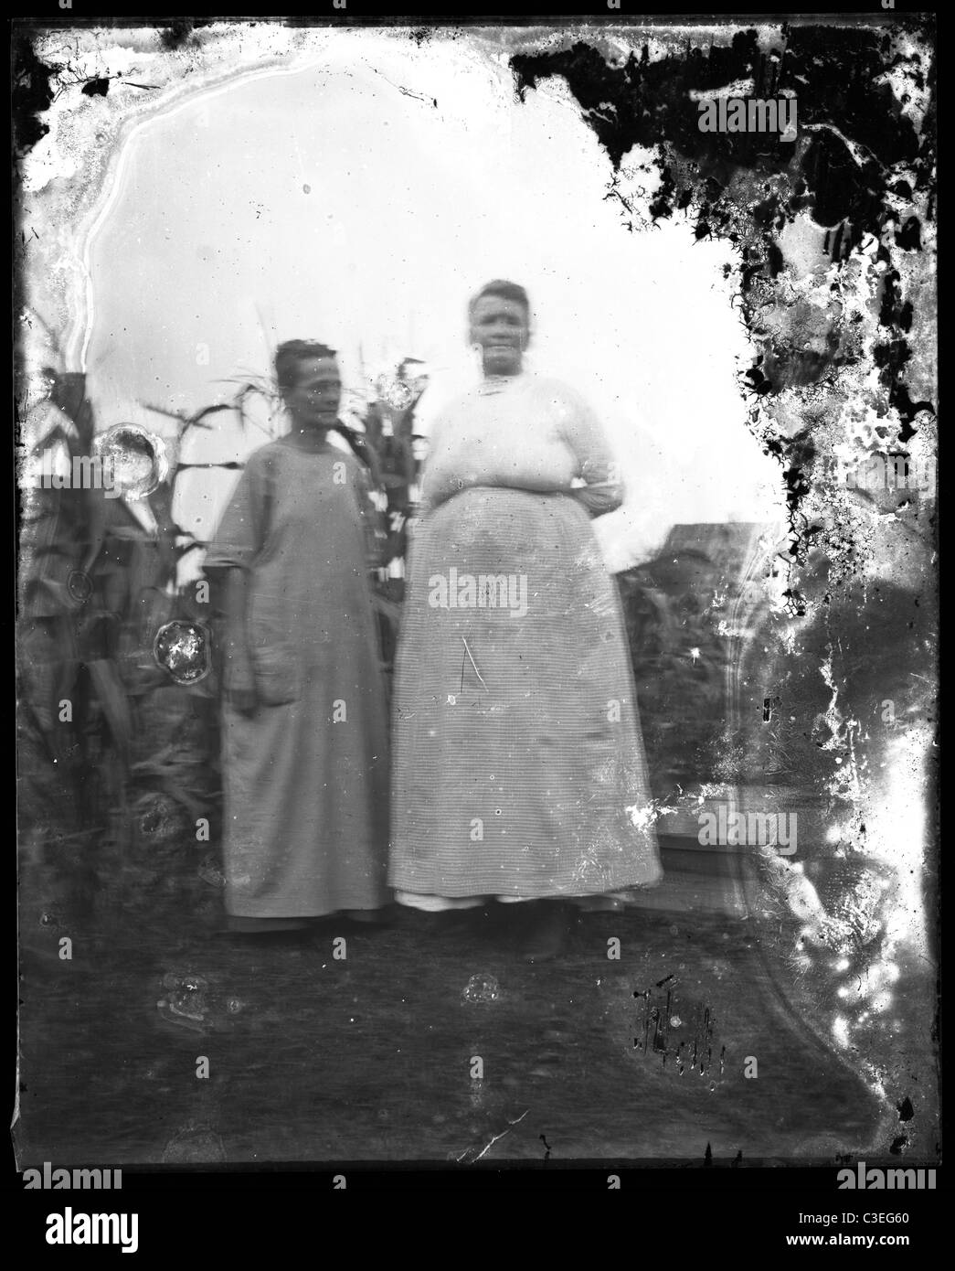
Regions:
[[15, 24], [37, 1187], [933, 1185], [935, 71], [881, 10]]

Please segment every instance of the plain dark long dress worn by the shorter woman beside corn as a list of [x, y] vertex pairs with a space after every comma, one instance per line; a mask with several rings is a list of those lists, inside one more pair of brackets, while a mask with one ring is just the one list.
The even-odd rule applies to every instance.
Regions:
[[226, 909], [245, 918], [387, 899], [387, 713], [367, 580], [363, 470], [330, 445], [255, 451], [208, 569], [248, 572], [259, 698], [224, 705]]

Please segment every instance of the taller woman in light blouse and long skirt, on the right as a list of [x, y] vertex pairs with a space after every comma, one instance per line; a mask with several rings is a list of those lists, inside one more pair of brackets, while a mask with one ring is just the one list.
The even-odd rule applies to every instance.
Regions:
[[662, 876], [616, 582], [591, 519], [622, 493], [568, 385], [530, 375], [530, 304], [469, 308], [483, 379], [436, 421], [395, 666], [389, 881], [425, 910], [524, 901], [528, 957], [566, 901]]

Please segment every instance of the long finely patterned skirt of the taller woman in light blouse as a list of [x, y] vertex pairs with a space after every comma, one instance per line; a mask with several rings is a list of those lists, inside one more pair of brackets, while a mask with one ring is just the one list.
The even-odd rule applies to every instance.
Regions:
[[659, 881], [620, 597], [571, 497], [478, 487], [422, 521], [392, 738], [399, 900]]

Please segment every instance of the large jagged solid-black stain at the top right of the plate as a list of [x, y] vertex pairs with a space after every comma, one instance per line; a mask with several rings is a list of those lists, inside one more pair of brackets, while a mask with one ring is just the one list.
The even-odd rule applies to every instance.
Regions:
[[[837, 201], [838, 215], [819, 217], [819, 224], [831, 225], [842, 215], [853, 220], [862, 220], [866, 212], [871, 216], [878, 211], [879, 170], [921, 158], [919, 139], [892, 89], [876, 83], [886, 70], [886, 37], [874, 31], [784, 25], [781, 46], [768, 52], [759, 51], [757, 32], [751, 28], [735, 32], [730, 44], [706, 51], [687, 39], [682, 55], [669, 53], [653, 62], [646, 46], [639, 58], [631, 52], [616, 67], [597, 48], [577, 43], [559, 52], [518, 53], [511, 66], [521, 100], [541, 79], [564, 76], [615, 169], [631, 146], [669, 141], [700, 164], [697, 187], [707, 180], [725, 186], [739, 164], [766, 173], [789, 170], [794, 146], [768, 135], [700, 132], [698, 108], [690, 92], [739, 79], [753, 79], [753, 97], [758, 98], [794, 90], [800, 128], [834, 125], [875, 156], [860, 172], [838, 136], [815, 133], [811, 158], [798, 174], [803, 188], [794, 189], [794, 196], [801, 200], [800, 206], [815, 203], [827, 215]], [[928, 168], [917, 164], [917, 170], [918, 184], [927, 186]], [[671, 200], [663, 197], [669, 214]], [[865, 228], [875, 231], [871, 221]]]

